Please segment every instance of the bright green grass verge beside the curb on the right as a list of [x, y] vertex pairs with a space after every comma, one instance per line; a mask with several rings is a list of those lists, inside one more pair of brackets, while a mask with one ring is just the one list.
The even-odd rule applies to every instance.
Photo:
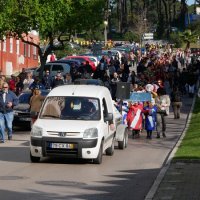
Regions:
[[188, 130], [173, 160], [200, 159], [200, 98], [196, 98]]

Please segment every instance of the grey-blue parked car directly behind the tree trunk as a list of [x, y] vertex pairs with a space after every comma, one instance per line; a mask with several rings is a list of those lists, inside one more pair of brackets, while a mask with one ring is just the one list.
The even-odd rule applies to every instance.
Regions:
[[[60, 71], [63, 75], [70, 72], [70, 62], [65, 60], [56, 60], [45, 64], [43, 74], [49, 70], [51, 76], [56, 76], [57, 72]], [[41, 66], [33, 71], [33, 76], [39, 76]]]

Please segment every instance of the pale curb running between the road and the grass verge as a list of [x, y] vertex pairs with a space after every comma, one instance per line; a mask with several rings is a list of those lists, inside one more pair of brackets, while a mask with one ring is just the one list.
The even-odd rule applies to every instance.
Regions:
[[169, 152], [169, 154], [168, 154], [166, 160], [165, 160], [164, 163], [163, 163], [162, 169], [161, 169], [161, 171], [159, 172], [158, 176], [156, 177], [156, 179], [155, 179], [153, 185], [151, 186], [151, 188], [150, 188], [148, 194], [146, 195], [145, 200], [152, 200], [152, 199], [154, 198], [154, 196], [155, 196], [155, 194], [156, 194], [156, 192], [157, 192], [157, 190], [158, 190], [158, 187], [159, 187], [161, 181], [163, 180], [163, 178], [164, 178], [164, 176], [165, 176], [167, 170], [169, 169], [170, 164], [171, 164], [171, 162], [172, 162], [172, 159], [173, 159], [173, 157], [174, 157], [174, 155], [175, 155], [175, 153], [176, 153], [178, 147], [180, 146], [180, 144], [181, 144], [183, 138], [185, 137], [185, 134], [186, 134], [187, 129], [188, 129], [188, 127], [189, 127], [189, 123], [190, 123], [190, 121], [191, 121], [192, 111], [193, 111], [193, 109], [194, 109], [195, 101], [196, 101], [196, 95], [195, 95], [195, 97], [193, 98], [192, 106], [191, 106], [191, 108], [190, 108], [190, 112], [189, 112], [189, 114], [188, 114], [188, 116], [187, 116], [187, 118], [186, 118], [186, 125], [185, 125], [185, 128], [184, 128], [184, 130], [183, 130], [183, 133], [181, 134], [180, 138], [178, 139], [177, 143], [174, 145], [174, 147], [172, 148], [172, 150]]

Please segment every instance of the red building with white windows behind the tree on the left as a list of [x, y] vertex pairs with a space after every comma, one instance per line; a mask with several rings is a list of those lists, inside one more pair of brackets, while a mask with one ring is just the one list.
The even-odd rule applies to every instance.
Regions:
[[[24, 38], [38, 44], [39, 36], [30, 33]], [[21, 39], [5, 37], [0, 40], [0, 71], [7, 76], [20, 72], [22, 68], [38, 66], [37, 47], [22, 42]]]

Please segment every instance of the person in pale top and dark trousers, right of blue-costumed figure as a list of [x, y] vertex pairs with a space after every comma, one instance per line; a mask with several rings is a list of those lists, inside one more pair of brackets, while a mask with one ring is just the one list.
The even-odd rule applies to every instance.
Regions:
[[160, 133], [162, 132], [162, 136], [166, 137], [166, 116], [169, 115], [169, 107], [170, 107], [170, 97], [166, 94], [164, 88], [158, 88], [157, 97], [155, 103], [157, 105], [157, 138], [160, 138]]

